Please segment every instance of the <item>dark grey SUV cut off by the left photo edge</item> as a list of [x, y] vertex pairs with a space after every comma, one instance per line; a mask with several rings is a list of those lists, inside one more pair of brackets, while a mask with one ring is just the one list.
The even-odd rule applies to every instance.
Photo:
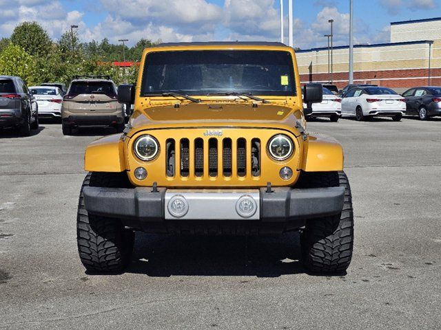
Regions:
[[39, 128], [37, 102], [19, 77], [0, 76], [0, 127], [6, 126], [25, 136]]

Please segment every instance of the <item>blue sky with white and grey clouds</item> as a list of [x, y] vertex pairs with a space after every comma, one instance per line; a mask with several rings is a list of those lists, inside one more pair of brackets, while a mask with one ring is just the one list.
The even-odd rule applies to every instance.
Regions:
[[[287, 43], [285, 0], [285, 43]], [[441, 16], [441, 0], [353, 0], [355, 43], [387, 43], [390, 23]], [[0, 37], [37, 21], [58, 39], [79, 25], [81, 41], [280, 41], [280, 0], [0, 0]], [[349, 43], [349, 0], [294, 0], [294, 46]]]

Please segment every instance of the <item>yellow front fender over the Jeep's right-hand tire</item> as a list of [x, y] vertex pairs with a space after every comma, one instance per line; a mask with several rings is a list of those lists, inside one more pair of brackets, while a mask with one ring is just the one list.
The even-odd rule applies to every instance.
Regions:
[[343, 148], [334, 138], [311, 133], [304, 150], [301, 169], [305, 172], [343, 170]]

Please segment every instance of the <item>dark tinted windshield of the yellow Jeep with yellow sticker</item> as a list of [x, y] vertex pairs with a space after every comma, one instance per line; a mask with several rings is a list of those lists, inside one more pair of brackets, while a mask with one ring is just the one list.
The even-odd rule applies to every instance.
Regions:
[[141, 95], [226, 92], [293, 96], [291, 54], [274, 51], [214, 50], [147, 54]]

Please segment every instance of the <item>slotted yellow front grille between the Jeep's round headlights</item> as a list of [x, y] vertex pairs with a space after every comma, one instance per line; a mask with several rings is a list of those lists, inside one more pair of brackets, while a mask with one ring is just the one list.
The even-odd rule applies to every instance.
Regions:
[[[248, 149], [248, 150], [247, 150]], [[166, 141], [165, 175], [167, 177], [231, 177], [260, 176], [260, 140], [247, 143], [240, 137], [198, 137]], [[251, 166], [247, 166], [247, 163]], [[249, 168], [250, 173], [247, 173]]]

